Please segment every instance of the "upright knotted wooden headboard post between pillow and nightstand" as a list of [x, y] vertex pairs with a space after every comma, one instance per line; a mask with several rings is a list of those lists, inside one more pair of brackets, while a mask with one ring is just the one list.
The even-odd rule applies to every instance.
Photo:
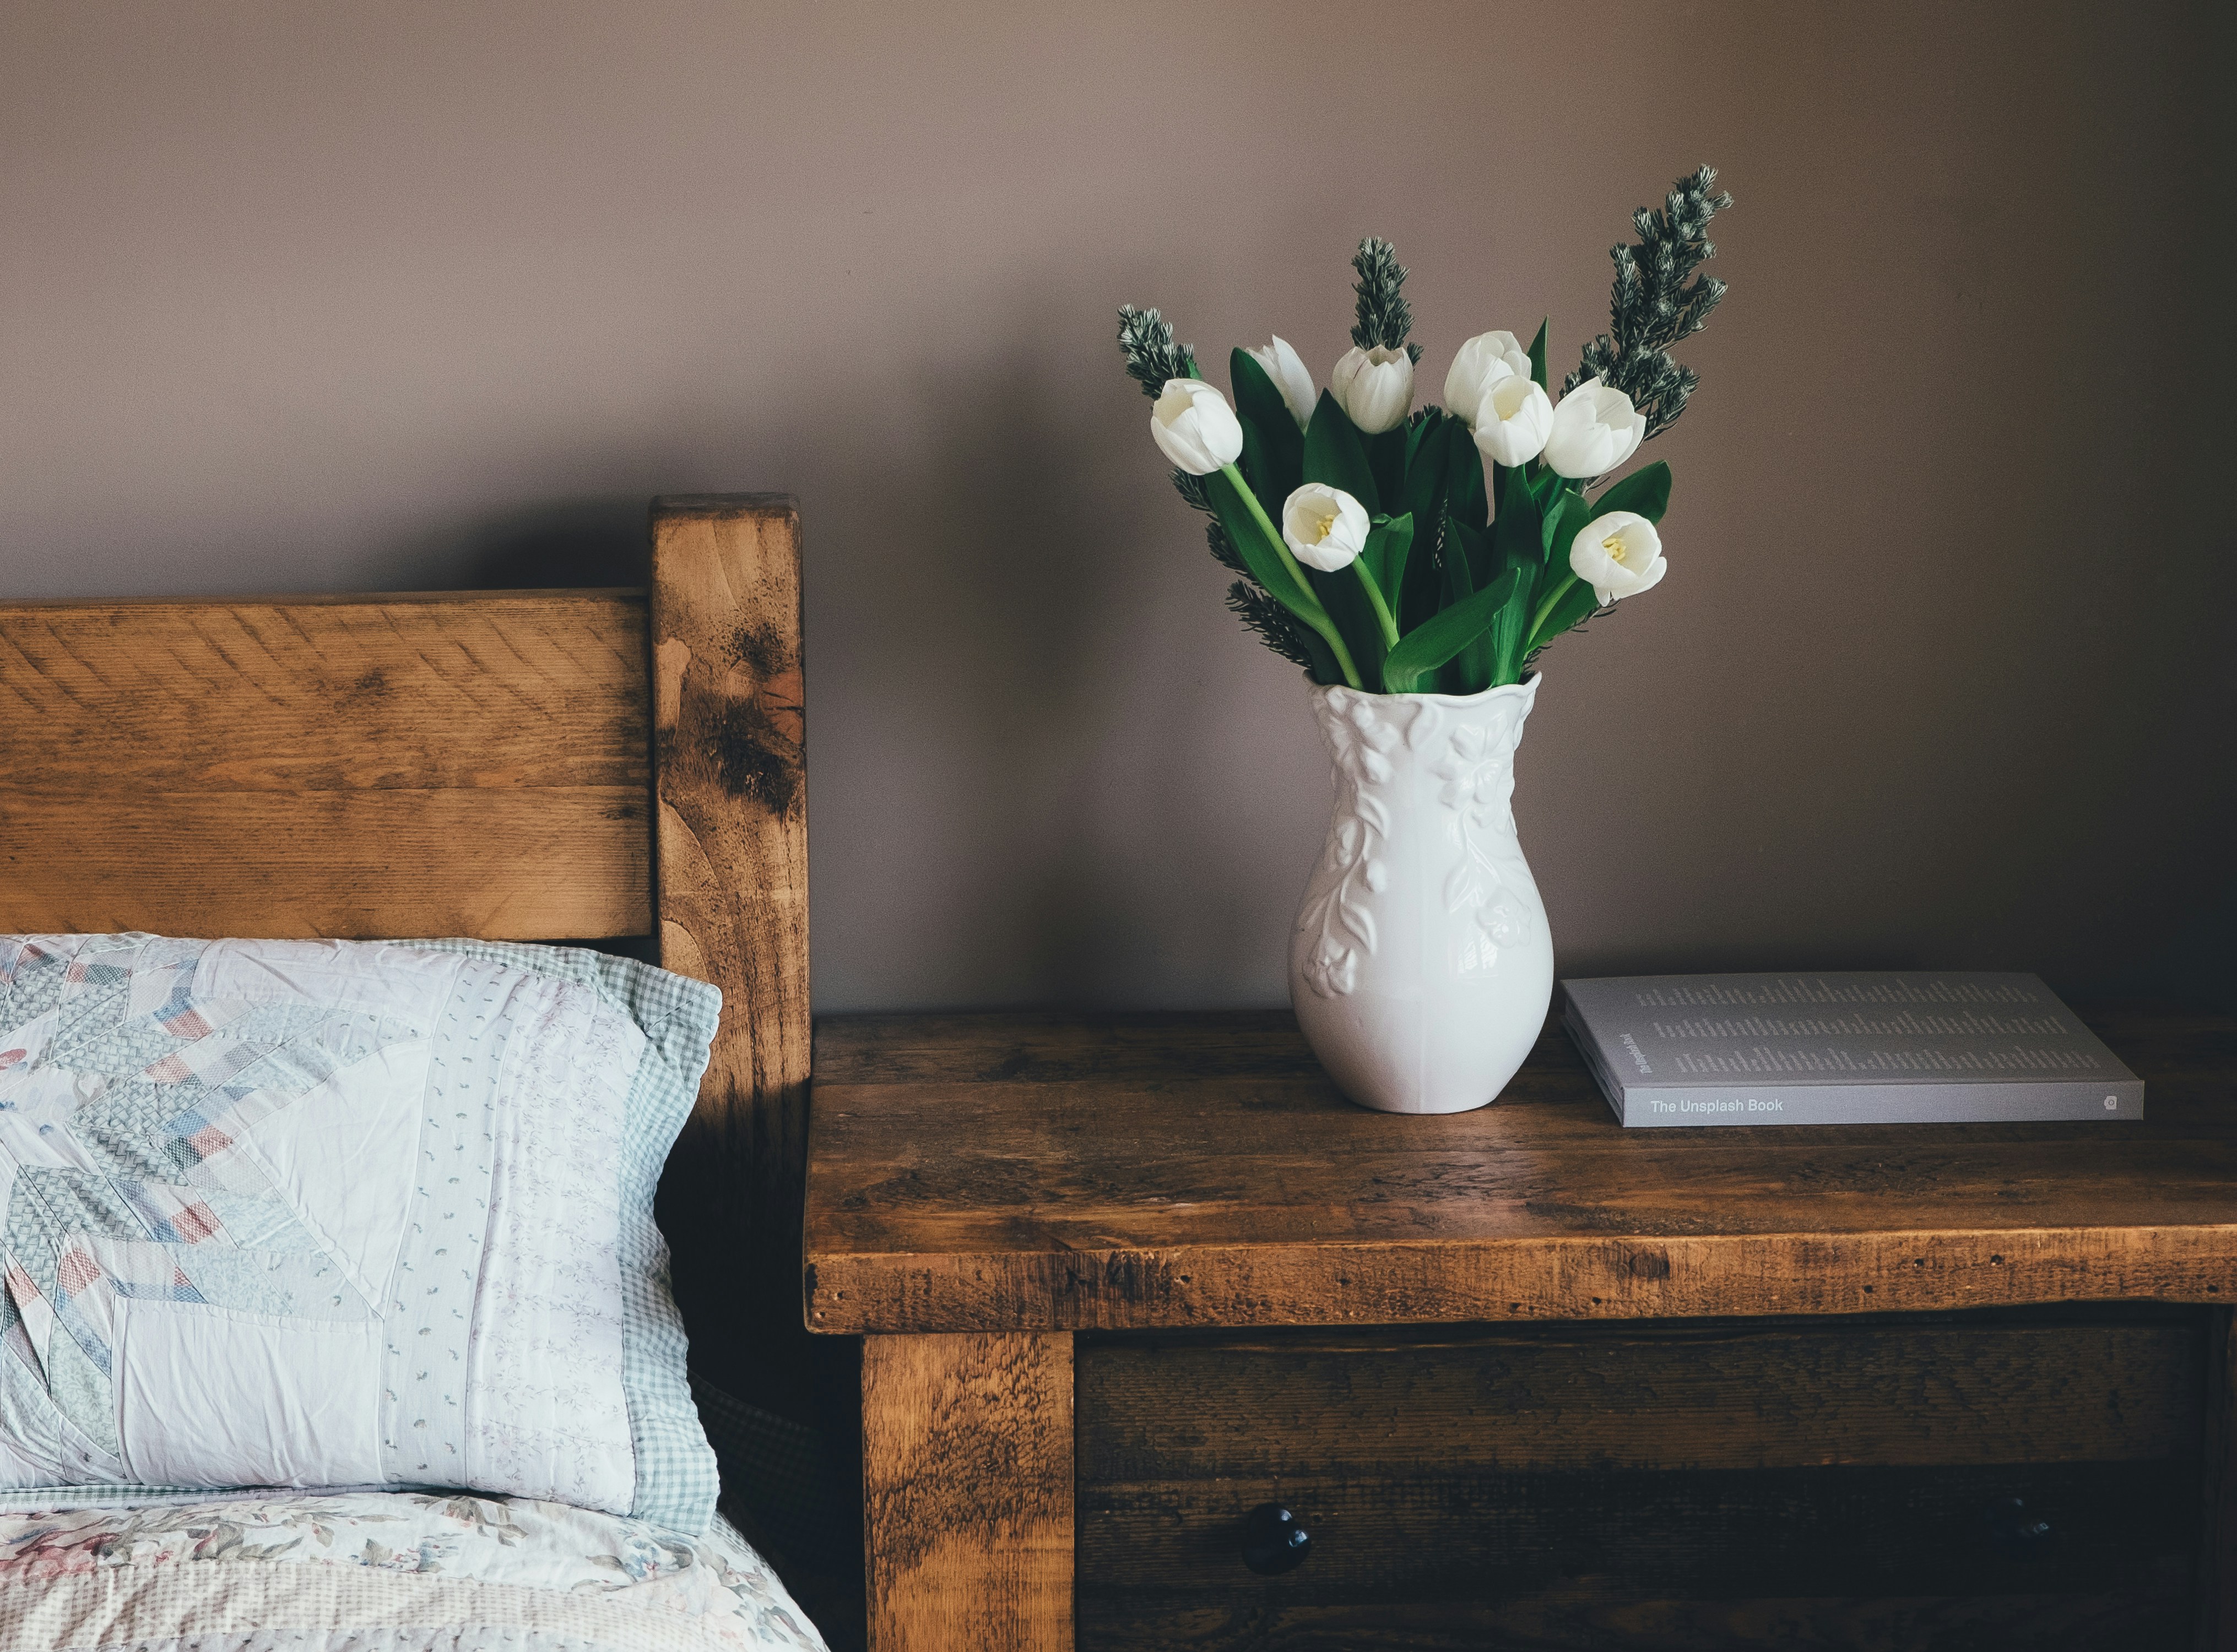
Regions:
[[693, 1361], [796, 1408], [808, 1384], [808, 760], [801, 514], [783, 494], [653, 501], [662, 966], [723, 988], [662, 1225]]

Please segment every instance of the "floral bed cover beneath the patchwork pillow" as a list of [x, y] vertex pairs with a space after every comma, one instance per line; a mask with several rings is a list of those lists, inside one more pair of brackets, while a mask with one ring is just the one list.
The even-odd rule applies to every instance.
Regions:
[[[20, 1504], [16, 1504], [20, 1507]], [[720, 1520], [698, 1538], [470, 1493], [0, 1513], [0, 1652], [823, 1652]]]

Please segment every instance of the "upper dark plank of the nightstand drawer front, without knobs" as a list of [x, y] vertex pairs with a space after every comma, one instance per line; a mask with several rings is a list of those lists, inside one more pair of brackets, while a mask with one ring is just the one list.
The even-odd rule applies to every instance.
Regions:
[[1080, 1484], [2197, 1458], [2203, 1335], [2083, 1310], [1096, 1339]]

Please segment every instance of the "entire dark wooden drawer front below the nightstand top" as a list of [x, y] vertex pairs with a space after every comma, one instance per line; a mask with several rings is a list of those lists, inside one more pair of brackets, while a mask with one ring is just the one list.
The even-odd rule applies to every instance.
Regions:
[[2156, 1308], [1083, 1339], [1078, 1643], [2188, 1648], [2206, 1370]]

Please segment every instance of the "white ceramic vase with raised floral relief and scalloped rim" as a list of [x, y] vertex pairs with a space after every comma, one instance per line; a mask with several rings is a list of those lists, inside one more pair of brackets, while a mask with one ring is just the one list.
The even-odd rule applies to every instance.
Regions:
[[1291, 934], [1289, 999], [1360, 1107], [1483, 1107], [1546, 1024], [1552, 939], [1510, 809], [1537, 682], [1311, 691], [1335, 816]]

